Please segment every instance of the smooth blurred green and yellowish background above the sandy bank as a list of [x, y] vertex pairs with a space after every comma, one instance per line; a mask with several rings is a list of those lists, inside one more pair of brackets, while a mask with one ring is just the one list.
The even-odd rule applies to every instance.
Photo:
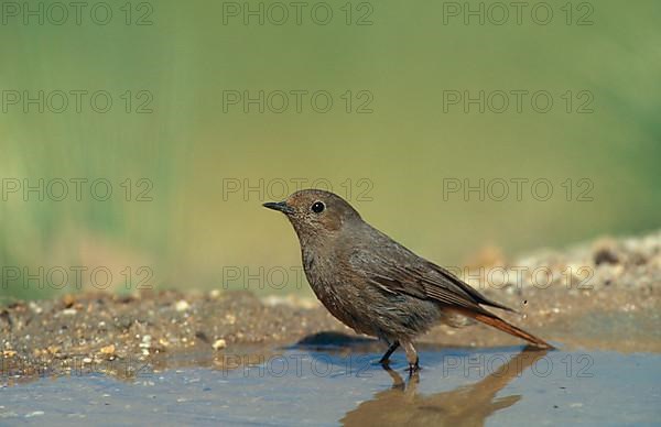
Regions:
[[[2, 2], [7, 8], [8, 2]], [[43, 3], [47, 9], [52, 3]], [[230, 287], [247, 283], [245, 267], [261, 280], [248, 282], [260, 293], [308, 293], [290, 273], [290, 285], [270, 286], [273, 267], [300, 265], [295, 236], [285, 219], [260, 205], [280, 196], [284, 179], [326, 179], [347, 195], [364, 218], [415, 252], [441, 264], [468, 262], [497, 248], [507, 258], [540, 247], [562, 248], [604, 234], [642, 233], [660, 226], [661, 209], [661, 3], [657, 0], [588, 3], [592, 25], [577, 25], [587, 9], [573, 2], [570, 25], [561, 8], [546, 2], [551, 23], [540, 25], [524, 10], [502, 25], [447, 18], [447, 4], [425, 1], [327, 4], [327, 25], [303, 10], [282, 25], [249, 25], [224, 15], [224, 2], [110, 1], [107, 25], [90, 21], [28, 25], [4, 10], [0, 25], [0, 90], [45, 94], [54, 90], [106, 90], [113, 106], [97, 113], [83, 103], [62, 113], [26, 113], [22, 103], [0, 113], [0, 176], [6, 179], [80, 177], [108, 179], [113, 194], [98, 201], [83, 193], [55, 201], [21, 193], [0, 200], [0, 265], [108, 266], [109, 289], [134, 288], [119, 274], [148, 266], [155, 288], [223, 288], [228, 269], [241, 271]], [[18, 3], [22, 4], [22, 3]], [[89, 4], [94, 4], [89, 3]], [[243, 7], [243, 2], [235, 3]], [[259, 2], [250, 2], [258, 9]], [[263, 3], [268, 13], [269, 2]], [[464, 4], [463, 2], [456, 4]], [[488, 7], [490, 3], [485, 3]], [[530, 2], [534, 6], [537, 2]], [[470, 2], [478, 8], [478, 2]], [[511, 11], [511, 10], [510, 10]], [[275, 12], [275, 11], [273, 11]], [[293, 9], [290, 9], [293, 12]], [[144, 17], [148, 14], [148, 17]], [[323, 13], [319, 12], [321, 15]], [[371, 25], [357, 25], [359, 17]], [[137, 25], [143, 17], [151, 25]], [[224, 17], [227, 24], [224, 24]], [[279, 17], [279, 15], [278, 15]], [[488, 17], [487, 17], [488, 18]], [[277, 18], [278, 19], [278, 18]], [[142, 22], [142, 23], [144, 23]], [[444, 112], [446, 90], [546, 90], [554, 107], [539, 113], [523, 105], [503, 113]], [[120, 96], [131, 91], [131, 113]], [[153, 99], [151, 113], [134, 110]], [[315, 112], [304, 98], [297, 113], [249, 113], [227, 106], [226, 90], [327, 90], [334, 106]], [[340, 98], [351, 91], [351, 112]], [[357, 113], [371, 94], [371, 113]], [[561, 95], [571, 90], [572, 112]], [[587, 90], [593, 113], [577, 113]], [[69, 101], [73, 97], [69, 97]], [[290, 98], [290, 101], [293, 98]], [[306, 101], [305, 101], [306, 100]], [[475, 194], [443, 196], [444, 179], [546, 178], [554, 194], [548, 201], [510, 195], [503, 201]], [[151, 188], [144, 182], [148, 179]], [[592, 183], [592, 201], [579, 201], [578, 179]], [[126, 200], [121, 183], [134, 193]], [[245, 197], [224, 191], [228, 183], [259, 186]], [[364, 179], [364, 180], [360, 180]], [[566, 200], [562, 186], [572, 179]], [[368, 189], [366, 197], [358, 195]], [[69, 186], [69, 191], [74, 188]], [[86, 187], [84, 187], [85, 189]], [[87, 187], [88, 188], [88, 187]], [[151, 200], [138, 201], [149, 189]], [[510, 190], [513, 189], [513, 185]], [[7, 188], [6, 188], [7, 189]], [[369, 198], [369, 199], [368, 199]], [[83, 275], [86, 277], [86, 275]], [[141, 276], [144, 278], [144, 276]], [[7, 277], [6, 277], [7, 278]], [[263, 289], [259, 283], [267, 281]], [[53, 289], [42, 280], [28, 288], [11, 282], [4, 297], [44, 298], [76, 291], [71, 282]], [[40, 285], [45, 285], [41, 288]], [[83, 283], [83, 289], [90, 289]]]

